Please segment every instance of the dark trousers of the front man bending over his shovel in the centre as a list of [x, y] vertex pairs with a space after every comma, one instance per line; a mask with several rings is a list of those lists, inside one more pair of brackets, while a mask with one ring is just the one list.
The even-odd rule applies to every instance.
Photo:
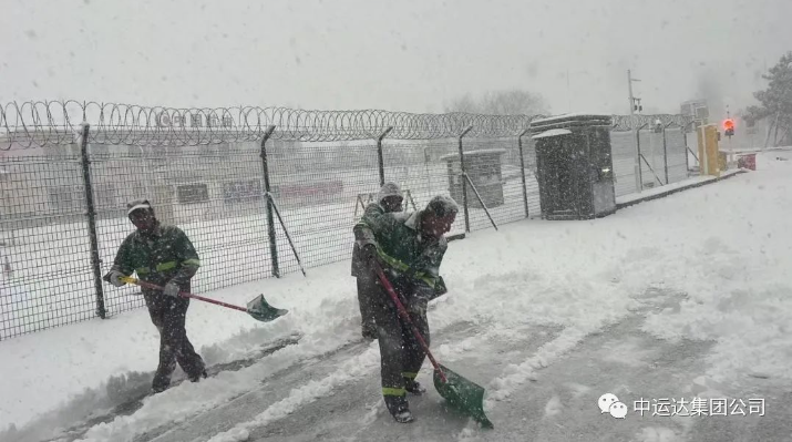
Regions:
[[[416, 284], [407, 278], [389, 277], [389, 281], [407, 302], [404, 307], [410, 313], [410, 318], [429, 345], [428, 287], [424, 287], [422, 282]], [[405, 380], [415, 379], [426, 353], [415, 339], [410, 326], [399, 317], [395, 305], [380, 281], [377, 280], [374, 284], [378, 290], [372, 292], [372, 305], [374, 306], [380, 345], [382, 395], [385, 398], [404, 397]]]

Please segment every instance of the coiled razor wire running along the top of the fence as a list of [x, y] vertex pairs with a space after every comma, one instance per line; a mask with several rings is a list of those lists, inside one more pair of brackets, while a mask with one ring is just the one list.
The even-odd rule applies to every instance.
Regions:
[[[272, 140], [332, 142], [370, 140], [388, 127], [392, 140], [516, 136], [543, 115], [470, 113], [413, 114], [380, 110], [306, 111], [287, 107], [163, 107], [68, 101], [11, 102], [0, 107], [0, 150], [75, 143], [81, 124], [95, 144], [184, 146], [259, 141], [271, 125]], [[615, 116], [615, 127], [676, 121], [681, 115]], [[676, 119], [676, 120], [675, 120]], [[681, 124], [681, 121], [680, 121]]]

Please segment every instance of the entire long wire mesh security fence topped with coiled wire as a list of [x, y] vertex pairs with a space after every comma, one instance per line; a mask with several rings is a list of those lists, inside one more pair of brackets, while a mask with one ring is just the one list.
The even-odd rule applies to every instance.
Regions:
[[[541, 216], [525, 115], [75, 102], [0, 111], [0, 339], [143, 306], [134, 287], [100, 279], [134, 229], [125, 204], [140, 197], [194, 243], [196, 292], [349, 259], [352, 226], [383, 181], [402, 187], [407, 210], [435, 195], [456, 201], [450, 235]], [[617, 195], [687, 176], [682, 125], [656, 117], [664, 132], [614, 117]]]

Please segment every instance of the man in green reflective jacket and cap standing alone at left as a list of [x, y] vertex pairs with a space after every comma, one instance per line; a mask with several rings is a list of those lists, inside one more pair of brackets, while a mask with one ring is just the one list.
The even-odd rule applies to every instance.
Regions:
[[152, 322], [160, 330], [160, 366], [152, 390], [158, 393], [171, 386], [177, 361], [189, 380], [197, 382], [206, 378], [206, 370], [187, 339], [189, 299], [178, 294], [189, 291], [189, 280], [200, 267], [198, 254], [182, 229], [160, 224], [148, 201], [130, 203], [127, 216], [137, 230], [121, 244], [105, 280], [121, 287], [125, 284], [121, 277], [134, 271], [141, 279], [164, 287], [162, 291], [142, 290]]

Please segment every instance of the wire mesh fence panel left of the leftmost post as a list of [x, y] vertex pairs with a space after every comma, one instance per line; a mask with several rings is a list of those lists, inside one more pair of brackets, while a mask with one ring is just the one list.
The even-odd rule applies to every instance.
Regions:
[[7, 158], [0, 176], [0, 338], [94, 317], [80, 157]]

